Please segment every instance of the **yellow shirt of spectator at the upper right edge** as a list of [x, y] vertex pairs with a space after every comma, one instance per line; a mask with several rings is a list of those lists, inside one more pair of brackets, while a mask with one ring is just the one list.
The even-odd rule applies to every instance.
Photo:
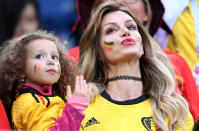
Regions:
[[[199, 5], [199, 0], [197, 0]], [[192, 71], [195, 70], [196, 64], [199, 63], [197, 55], [196, 35], [193, 20], [193, 10], [191, 0], [189, 5], [184, 9], [176, 20], [172, 29], [172, 34], [168, 43], [168, 50], [177, 52], [189, 64]]]

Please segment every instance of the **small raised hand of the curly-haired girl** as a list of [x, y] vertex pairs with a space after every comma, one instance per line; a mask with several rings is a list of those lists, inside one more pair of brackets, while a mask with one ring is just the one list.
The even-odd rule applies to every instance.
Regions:
[[86, 83], [86, 80], [84, 80], [84, 77], [82, 75], [76, 77], [75, 89], [73, 93], [71, 91], [71, 87], [67, 85], [68, 97], [79, 96], [79, 97], [86, 97], [90, 99], [91, 93], [92, 93], [92, 87], [88, 86], [88, 84]]

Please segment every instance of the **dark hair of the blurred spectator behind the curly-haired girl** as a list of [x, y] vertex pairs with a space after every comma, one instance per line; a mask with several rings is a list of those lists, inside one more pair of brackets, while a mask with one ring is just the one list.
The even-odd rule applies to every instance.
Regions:
[[34, 5], [39, 21], [38, 4], [35, 0], [0, 0], [0, 46], [14, 35], [21, 13], [29, 3]]

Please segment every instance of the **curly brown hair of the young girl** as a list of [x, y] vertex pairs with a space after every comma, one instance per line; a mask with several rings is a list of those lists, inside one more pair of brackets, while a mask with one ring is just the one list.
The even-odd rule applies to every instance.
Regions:
[[[66, 85], [74, 88], [75, 62], [66, 56], [64, 46], [51, 33], [36, 31], [13, 38], [4, 42], [0, 52], [0, 99], [6, 109], [7, 116], [11, 122], [12, 103], [19, 95], [25, 74], [26, 46], [34, 40], [46, 39], [52, 41], [58, 50], [61, 65], [61, 75], [57, 83], [52, 85], [53, 95], [60, 96], [64, 101], [66, 97]], [[41, 43], [42, 44], [42, 43]]]

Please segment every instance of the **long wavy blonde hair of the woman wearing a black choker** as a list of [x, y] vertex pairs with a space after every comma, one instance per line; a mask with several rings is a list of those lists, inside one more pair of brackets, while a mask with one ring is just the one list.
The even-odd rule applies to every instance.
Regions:
[[[142, 36], [144, 54], [140, 58], [140, 71], [144, 93], [150, 96], [152, 118], [159, 129], [173, 131], [177, 126], [184, 129], [189, 107], [186, 100], [175, 93], [175, 75], [167, 56], [155, 43], [143, 25], [128, 9], [106, 2], [96, 9], [80, 41], [79, 71], [88, 82], [104, 88], [108, 76], [107, 62], [99, 44], [103, 17], [114, 11], [122, 11], [131, 16]], [[133, 116], [132, 116], [133, 117]], [[167, 121], [169, 120], [169, 122]]]

